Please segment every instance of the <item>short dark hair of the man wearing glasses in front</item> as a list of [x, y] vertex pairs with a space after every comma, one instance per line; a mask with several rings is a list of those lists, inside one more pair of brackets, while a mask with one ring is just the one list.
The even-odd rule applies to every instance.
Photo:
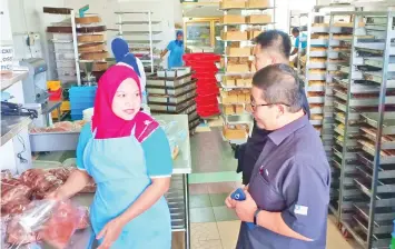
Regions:
[[267, 103], [283, 103], [289, 112], [303, 107], [299, 79], [295, 70], [287, 64], [270, 64], [257, 71], [253, 84], [263, 90], [263, 100]]

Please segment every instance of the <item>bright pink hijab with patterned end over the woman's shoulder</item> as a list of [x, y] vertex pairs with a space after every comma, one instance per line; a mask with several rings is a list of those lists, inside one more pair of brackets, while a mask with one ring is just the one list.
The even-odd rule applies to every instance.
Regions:
[[139, 111], [130, 121], [124, 120], [112, 112], [111, 106], [117, 89], [124, 80], [129, 78], [137, 82], [141, 96], [139, 77], [129, 67], [112, 66], [100, 78], [92, 118], [96, 139], [124, 138], [134, 133], [139, 142], [144, 142], [159, 127], [152, 117], [142, 111]]

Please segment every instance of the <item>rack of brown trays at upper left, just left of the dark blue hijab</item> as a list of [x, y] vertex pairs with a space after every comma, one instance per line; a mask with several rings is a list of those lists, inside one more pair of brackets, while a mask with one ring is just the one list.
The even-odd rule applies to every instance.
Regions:
[[106, 26], [101, 23], [98, 16], [87, 16], [76, 18], [78, 52], [80, 57], [80, 68], [83, 71], [82, 81], [91, 82], [96, 77], [96, 81], [107, 70], [108, 64], [106, 58], [105, 32]]

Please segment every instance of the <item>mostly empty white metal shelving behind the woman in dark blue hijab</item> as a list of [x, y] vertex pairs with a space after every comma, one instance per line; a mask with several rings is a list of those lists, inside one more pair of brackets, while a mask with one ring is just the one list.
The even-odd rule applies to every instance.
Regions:
[[[161, 42], [160, 39], [155, 38], [154, 36], [160, 34], [162, 31], [152, 30], [152, 27], [161, 23], [160, 21], [152, 21], [152, 12], [151, 11], [132, 11], [132, 12], [115, 12], [118, 14], [118, 36], [124, 38], [130, 44], [130, 51], [134, 53], [140, 53], [144, 56], [148, 54], [148, 59], [141, 59], [142, 64], [149, 66], [150, 71], [155, 72], [156, 58], [155, 58], [155, 44]], [[146, 16], [147, 20], [144, 21], [131, 21], [125, 20], [126, 16], [132, 17], [132, 14]], [[141, 19], [141, 18], [134, 18]], [[126, 27], [148, 27], [148, 30], [127, 30]], [[127, 37], [134, 36], [132, 39], [128, 39]], [[135, 37], [138, 36], [138, 39]], [[146, 39], [148, 36], [148, 39]], [[147, 47], [148, 46], [148, 47]]]

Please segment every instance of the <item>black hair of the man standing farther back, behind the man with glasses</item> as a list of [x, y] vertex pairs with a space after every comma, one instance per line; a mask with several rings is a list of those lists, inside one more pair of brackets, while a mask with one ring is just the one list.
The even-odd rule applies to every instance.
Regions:
[[277, 29], [261, 32], [255, 38], [255, 42], [260, 44], [261, 49], [271, 49], [282, 53], [287, 60], [290, 53], [290, 39], [286, 32]]

